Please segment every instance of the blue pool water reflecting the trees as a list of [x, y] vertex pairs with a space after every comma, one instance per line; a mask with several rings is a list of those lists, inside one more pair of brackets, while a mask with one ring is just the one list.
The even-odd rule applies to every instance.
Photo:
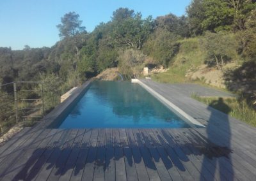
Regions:
[[94, 81], [59, 128], [190, 127], [137, 83]]

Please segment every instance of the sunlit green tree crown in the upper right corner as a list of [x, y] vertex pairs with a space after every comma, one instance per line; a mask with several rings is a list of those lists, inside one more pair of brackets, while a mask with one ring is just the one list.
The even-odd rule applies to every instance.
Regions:
[[243, 30], [254, 0], [193, 0], [187, 8], [189, 29], [198, 35], [205, 31]]

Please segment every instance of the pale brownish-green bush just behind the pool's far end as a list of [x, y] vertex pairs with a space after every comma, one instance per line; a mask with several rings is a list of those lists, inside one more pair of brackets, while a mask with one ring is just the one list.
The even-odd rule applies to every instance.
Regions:
[[139, 50], [128, 49], [119, 52], [119, 71], [129, 78], [138, 78], [143, 70], [143, 63], [146, 56]]

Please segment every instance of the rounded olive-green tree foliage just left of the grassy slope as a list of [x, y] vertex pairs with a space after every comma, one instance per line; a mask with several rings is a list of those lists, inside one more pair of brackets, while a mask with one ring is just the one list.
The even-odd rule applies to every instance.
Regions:
[[165, 29], [157, 29], [150, 36], [143, 50], [145, 54], [156, 60], [157, 65], [167, 67], [172, 57], [179, 51], [179, 43], [176, 42], [178, 39], [179, 36]]

